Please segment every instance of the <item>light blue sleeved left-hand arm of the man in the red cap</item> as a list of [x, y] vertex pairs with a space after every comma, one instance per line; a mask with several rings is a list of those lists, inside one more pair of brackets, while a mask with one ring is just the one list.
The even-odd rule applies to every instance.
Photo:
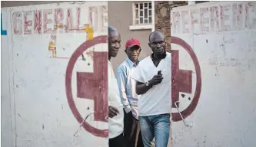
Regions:
[[127, 85], [127, 74], [125, 71], [118, 67], [117, 70], [117, 80], [118, 80], [118, 89], [120, 93], [121, 103], [125, 106], [125, 112], [129, 113], [131, 111], [131, 106], [128, 101], [127, 95], [126, 95], [126, 85]]

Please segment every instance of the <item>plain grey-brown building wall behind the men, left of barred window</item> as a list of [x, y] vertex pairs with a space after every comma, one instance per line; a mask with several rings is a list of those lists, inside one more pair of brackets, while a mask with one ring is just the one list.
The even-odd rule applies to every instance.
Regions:
[[130, 31], [129, 25], [132, 25], [132, 1], [131, 2], [108, 2], [108, 24], [118, 28], [121, 34], [121, 49], [118, 56], [112, 59], [114, 72], [122, 61], [126, 59], [125, 42], [129, 38], [137, 38], [141, 42], [141, 55], [143, 59], [151, 54], [151, 49], [148, 47], [148, 36], [150, 30]]

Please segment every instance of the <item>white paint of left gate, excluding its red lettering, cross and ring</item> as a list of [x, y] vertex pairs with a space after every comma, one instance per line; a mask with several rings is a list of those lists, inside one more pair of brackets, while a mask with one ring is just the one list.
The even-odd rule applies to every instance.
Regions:
[[[2, 38], [2, 145], [3, 146], [108, 146], [108, 139], [96, 137], [81, 129], [78, 136], [74, 136], [80, 124], [75, 119], [68, 106], [65, 93], [65, 72], [69, 57], [86, 38], [85, 32], [56, 33], [57, 57], [51, 58], [48, 44], [51, 34], [35, 33], [34, 13], [28, 15], [32, 21], [32, 34], [24, 34], [24, 11], [42, 10], [42, 18], [46, 9], [61, 8], [64, 11], [63, 23], [66, 24], [68, 8], [73, 16], [73, 27], [77, 24], [77, 8], [81, 8], [80, 26], [89, 23], [89, 7], [107, 6], [107, 2], [85, 2], [84, 4], [31, 5], [22, 7], [2, 8], [3, 24], [7, 29], [7, 36]], [[15, 12], [21, 12], [18, 23], [22, 23], [22, 34], [15, 34]], [[93, 13], [92, 24], [94, 36], [107, 35], [108, 19], [104, 19], [98, 11]], [[28, 13], [29, 14], [29, 13]], [[106, 15], [106, 14], [104, 14]], [[48, 15], [53, 18], [53, 15]], [[43, 19], [42, 19], [43, 20]], [[104, 27], [100, 26], [101, 22]], [[53, 28], [48, 24], [47, 28]], [[42, 32], [44, 31], [42, 21]], [[101, 28], [101, 29], [100, 29]], [[107, 44], [95, 46], [95, 51], [108, 51]], [[90, 49], [90, 51], [92, 48]], [[88, 51], [86, 51], [88, 52]], [[93, 71], [93, 62], [84, 53], [86, 61], [79, 58], [72, 77], [73, 96], [75, 104], [82, 117], [88, 115], [88, 106], [94, 109], [92, 100], [76, 97], [76, 71]], [[88, 65], [88, 62], [91, 64]], [[107, 64], [107, 63], [106, 63]], [[12, 115], [13, 114], [13, 115]], [[93, 116], [88, 121], [91, 126], [108, 129], [108, 123], [95, 122]]]

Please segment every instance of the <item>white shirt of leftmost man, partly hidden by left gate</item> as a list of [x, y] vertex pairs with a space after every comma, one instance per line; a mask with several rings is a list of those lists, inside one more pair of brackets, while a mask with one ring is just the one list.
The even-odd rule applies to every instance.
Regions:
[[113, 72], [111, 62], [108, 60], [108, 106], [114, 106], [119, 114], [113, 118], [108, 117], [108, 138], [119, 136], [124, 131], [124, 110], [118, 90], [118, 83]]

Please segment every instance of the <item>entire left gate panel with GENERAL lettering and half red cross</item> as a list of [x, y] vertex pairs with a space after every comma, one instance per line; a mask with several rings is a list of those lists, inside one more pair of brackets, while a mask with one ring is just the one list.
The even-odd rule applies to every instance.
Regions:
[[108, 146], [107, 2], [2, 8], [2, 15], [2, 145]]

